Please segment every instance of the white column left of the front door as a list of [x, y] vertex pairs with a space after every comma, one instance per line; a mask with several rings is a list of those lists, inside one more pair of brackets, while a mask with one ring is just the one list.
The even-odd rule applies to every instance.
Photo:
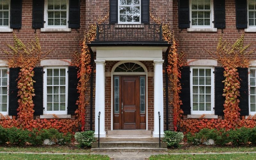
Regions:
[[105, 132], [105, 60], [95, 60], [96, 84], [95, 84], [95, 137], [98, 137], [98, 115], [100, 112], [100, 137], [106, 137]]

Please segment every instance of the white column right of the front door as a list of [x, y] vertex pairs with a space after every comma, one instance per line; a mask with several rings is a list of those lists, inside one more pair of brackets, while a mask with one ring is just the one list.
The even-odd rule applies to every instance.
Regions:
[[159, 116], [160, 112], [160, 136], [164, 137], [164, 91], [163, 91], [163, 62], [154, 60], [154, 132], [153, 137], [159, 137]]

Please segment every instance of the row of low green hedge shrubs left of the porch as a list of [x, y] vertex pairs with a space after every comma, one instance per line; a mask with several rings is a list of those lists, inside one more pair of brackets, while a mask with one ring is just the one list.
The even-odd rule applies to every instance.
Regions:
[[52, 144], [70, 143], [71, 133], [60, 133], [57, 129], [33, 129], [32, 131], [20, 128], [3, 128], [0, 126], [0, 144], [9, 142], [11, 144], [24, 145], [26, 142], [32, 145], [42, 145], [45, 139], [49, 139]]

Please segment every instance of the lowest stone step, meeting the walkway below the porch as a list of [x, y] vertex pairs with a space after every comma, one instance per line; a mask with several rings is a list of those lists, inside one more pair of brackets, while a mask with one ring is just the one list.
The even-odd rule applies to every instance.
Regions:
[[145, 148], [145, 147], [113, 147], [92, 148], [92, 152], [167, 152], [167, 148]]

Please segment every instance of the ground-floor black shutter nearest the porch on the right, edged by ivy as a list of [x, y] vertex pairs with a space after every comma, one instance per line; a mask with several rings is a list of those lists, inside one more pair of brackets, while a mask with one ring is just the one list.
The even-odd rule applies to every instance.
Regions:
[[183, 110], [184, 115], [189, 115], [191, 112], [190, 108], [190, 67], [180, 68], [181, 78], [180, 78], [180, 100], [182, 100], [182, 105], [180, 108]]

